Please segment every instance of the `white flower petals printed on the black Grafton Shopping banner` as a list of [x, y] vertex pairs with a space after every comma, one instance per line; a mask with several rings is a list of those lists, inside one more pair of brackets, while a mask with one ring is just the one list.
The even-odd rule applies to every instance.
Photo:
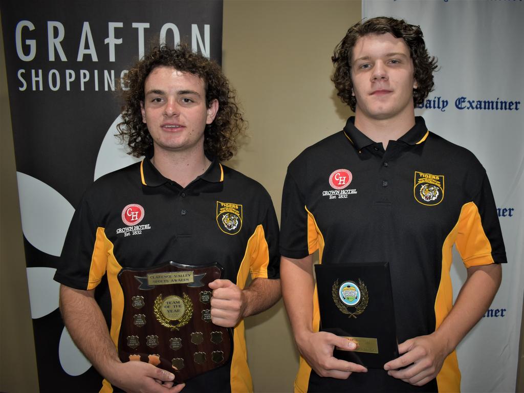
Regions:
[[[126, 154], [125, 145], [114, 136], [121, 121], [118, 116], [107, 130], [97, 156], [94, 180], [140, 160]], [[59, 257], [74, 214], [73, 206], [58, 191], [28, 174], [17, 172], [17, 181], [24, 236], [41, 252]], [[58, 308], [60, 284], [53, 280], [54, 272], [56, 269], [49, 267], [27, 268], [32, 319], [42, 318]], [[81, 375], [91, 367], [65, 328], [58, 353], [60, 365], [69, 375]]]

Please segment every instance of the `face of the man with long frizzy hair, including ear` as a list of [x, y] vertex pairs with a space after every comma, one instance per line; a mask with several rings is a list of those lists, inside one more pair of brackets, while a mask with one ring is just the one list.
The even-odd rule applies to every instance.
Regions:
[[203, 152], [204, 129], [215, 118], [219, 104], [208, 108], [204, 81], [198, 76], [172, 67], [157, 67], [144, 84], [140, 103], [142, 121], [153, 139], [155, 154], [166, 152]]

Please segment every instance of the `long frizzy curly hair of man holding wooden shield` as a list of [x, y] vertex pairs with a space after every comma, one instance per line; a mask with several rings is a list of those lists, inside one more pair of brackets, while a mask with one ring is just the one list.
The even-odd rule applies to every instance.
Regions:
[[213, 123], [206, 125], [204, 130], [204, 153], [221, 161], [233, 157], [238, 147], [237, 137], [243, 133], [246, 124], [238, 108], [236, 91], [230, 87], [218, 64], [191, 51], [185, 44], [174, 49], [166, 45], [155, 47], [125, 74], [122, 80], [123, 122], [117, 125], [117, 129], [118, 136], [127, 140], [128, 154], [135, 157], [146, 155], [153, 145], [147, 125], [142, 122], [140, 102], [144, 102], [146, 78], [152, 70], [162, 66], [189, 72], [204, 81], [206, 106], [209, 108], [213, 100], [219, 102]]

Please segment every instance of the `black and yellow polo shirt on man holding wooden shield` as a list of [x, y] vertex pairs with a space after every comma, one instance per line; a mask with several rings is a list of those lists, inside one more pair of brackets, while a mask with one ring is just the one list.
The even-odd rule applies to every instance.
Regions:
[[[214, 161], [186, 188], [145, 159], [98, 179], [75, 212], [54, 277], [71, 288], [96, 288], [104, 275], [111, 292], [115, 345], [123, 313], [117, 274], [173, 260], [217, 262], [244, 288], [252, 278], [278, 278], [278, 223], [262, 185]], [[252, 391], [244, 322], [234, 329], [232, 360], [187, 382], [184, 391]], [[104, 381], [103, 392], [112, 391]]]

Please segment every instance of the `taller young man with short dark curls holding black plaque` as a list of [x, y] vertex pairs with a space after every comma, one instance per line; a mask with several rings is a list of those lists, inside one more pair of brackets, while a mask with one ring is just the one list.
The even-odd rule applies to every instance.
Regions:
[[[460, 391], [455, 347], [493, 300], [506, 262], [486, 171], [414, 115], [436, 69], [419, 26], [363, 20], [332, 61], [355, 116], [290, 163], [282, 195], [282, 295], [301, 354], [295, 391]], [[454, 304], [453, 245], [467, 268]], [[323, 265], [389, 262], [399, 357], [382, 369], [335, 358], [356, 343], [319, 332], [316, 250]]]

